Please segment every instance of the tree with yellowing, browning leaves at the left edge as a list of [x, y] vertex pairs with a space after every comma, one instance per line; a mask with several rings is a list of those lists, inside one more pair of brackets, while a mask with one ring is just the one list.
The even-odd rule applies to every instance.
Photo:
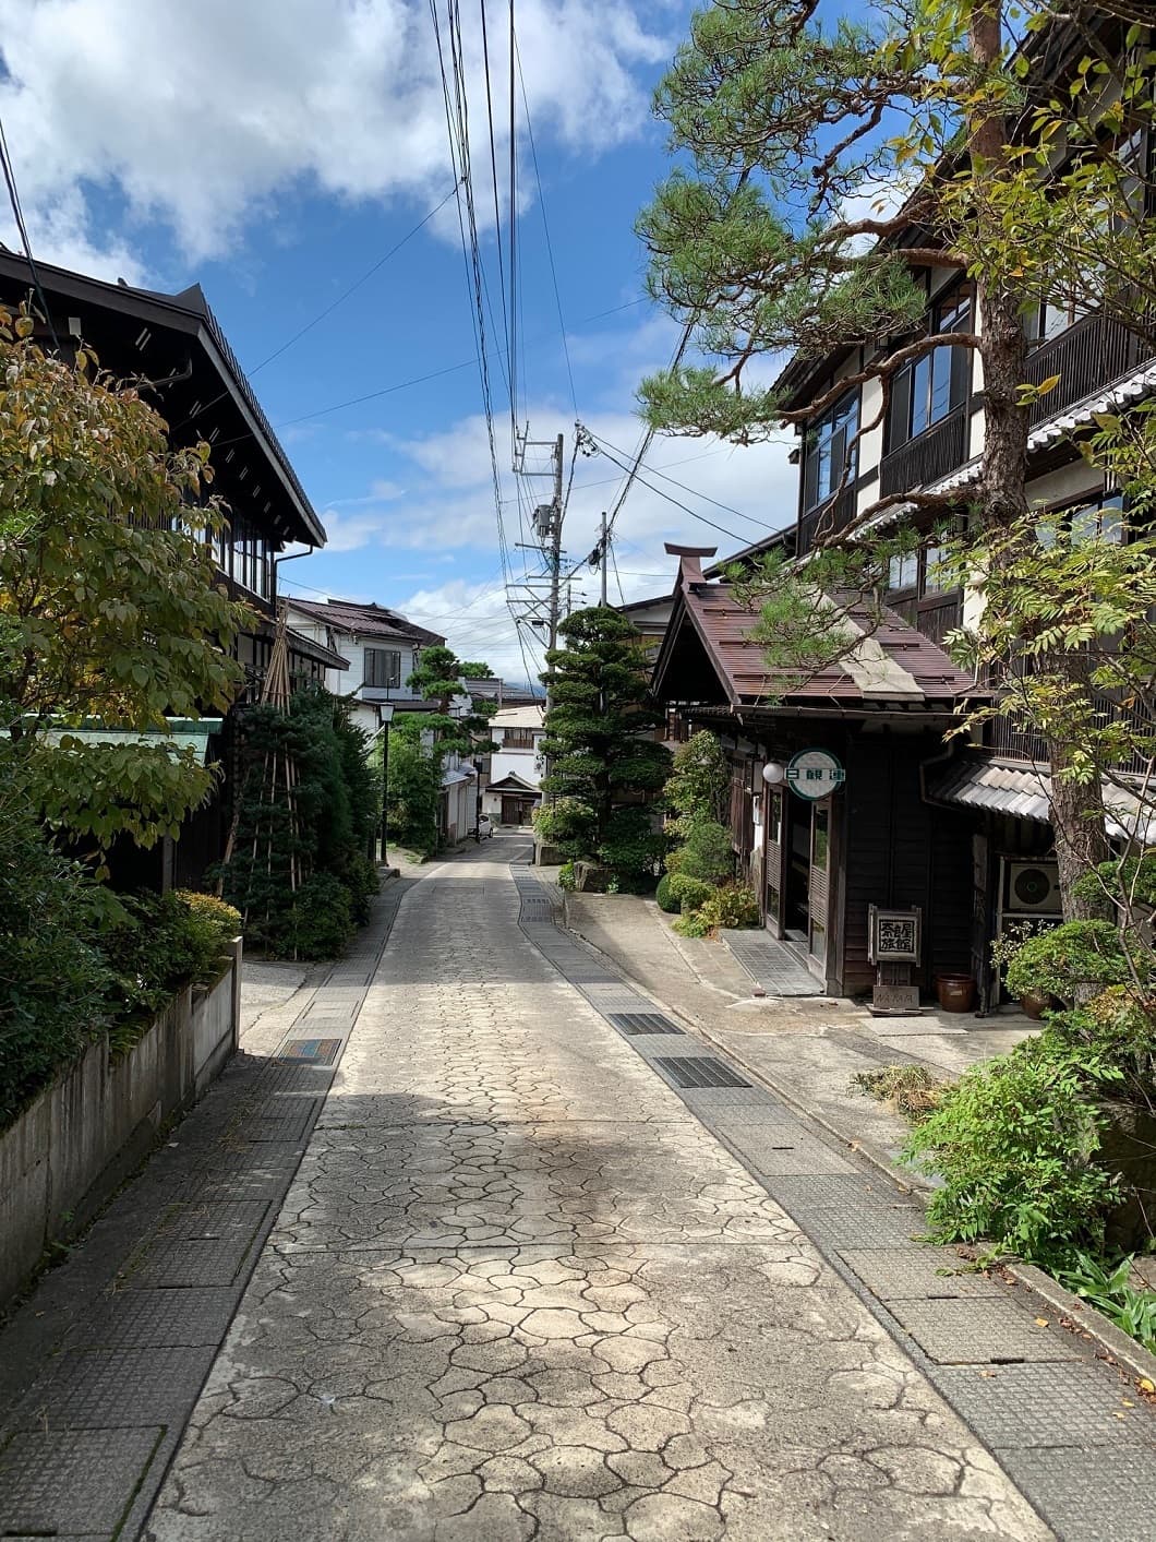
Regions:
[[29, 796], [100, 847], [176, 834], [213, 771], [159, 745], [49, 743], [97, 719], [163, 729], [225, 711], [245, 608], [214, 586], [208, 446], [174, 450], [163, 419], [85, 350], [45, 355], [0, 311], [0, 712]]

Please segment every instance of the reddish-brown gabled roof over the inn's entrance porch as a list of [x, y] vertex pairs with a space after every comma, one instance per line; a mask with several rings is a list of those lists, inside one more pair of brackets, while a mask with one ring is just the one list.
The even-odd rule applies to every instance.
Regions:
[[731, 584], [707, 583], [701, 558], [714, 550], [670, 547], [680, 555], [675, 609], [654, 672], [660, 700], [723, 706], [741, 715], [803, 709], [837, 715], [877, 712], [953, 714], [982, 694], [942, 648], [894, 611], [851, 603], [840, 625], [860, 641], [838, 663], [800, 680], [769, 669], [751, 640], [757, 617], [735, 600]]

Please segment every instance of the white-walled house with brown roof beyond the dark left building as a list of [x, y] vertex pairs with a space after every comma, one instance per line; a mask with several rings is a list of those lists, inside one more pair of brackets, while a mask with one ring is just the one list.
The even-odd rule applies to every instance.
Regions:
[[391, 703], [398, 712], [415, 712], [428, 703], [405, 683], [413, 674], [422, 648], [445, 641], [436, 632], [415, 626], [384, 604], [358, 604], [353, 600], [288, 601], [290, 626], [342, 655], [341, 668], [328, 671], [325, 685], [334, 695], [356, 700], [356, 722], [373, 732], [381, 722], [379, 708]]

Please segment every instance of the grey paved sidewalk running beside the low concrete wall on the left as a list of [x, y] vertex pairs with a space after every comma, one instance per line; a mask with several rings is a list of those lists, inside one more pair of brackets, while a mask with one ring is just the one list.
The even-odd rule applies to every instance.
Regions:
[[242, 1047], [0, 1334], [0, 1536], [131, 1539], [301, 1161], [401, 899], [331, 968], [247, 967]]

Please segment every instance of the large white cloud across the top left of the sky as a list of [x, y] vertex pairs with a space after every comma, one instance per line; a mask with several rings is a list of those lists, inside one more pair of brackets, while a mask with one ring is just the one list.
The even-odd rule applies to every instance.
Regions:
[[[674, 42], [640, 12], [664, 9], [521, 0], [541, 139], [589, 154], [638, 131], [647, 103], [632, 71], [669, 57]], [[462, 28], [481, 131], [476, 8]], [[228, 251], [297, 188], [425, 200], [449, 187], [424, 0], [0, 0], [0, 113], [46, 261], [140, 276], [122, 237], [94, 234], [94, 208], [106, 210], [109, 193], [133, 221], [171, 227], [199, 259]], [[492, 37], [499, 102], [506, 59]]]

